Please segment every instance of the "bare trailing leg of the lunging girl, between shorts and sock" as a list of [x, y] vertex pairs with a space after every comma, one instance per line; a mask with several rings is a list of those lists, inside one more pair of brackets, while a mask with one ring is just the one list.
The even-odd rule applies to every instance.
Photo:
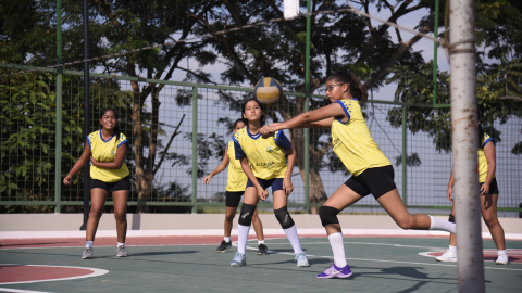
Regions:
[[427, 215], [412, 215], [406, 209], [397, 189], [394, 189], [381, 198], [377, 202], [391, 216], [402, 229], [428, 230], [432, 224]]

